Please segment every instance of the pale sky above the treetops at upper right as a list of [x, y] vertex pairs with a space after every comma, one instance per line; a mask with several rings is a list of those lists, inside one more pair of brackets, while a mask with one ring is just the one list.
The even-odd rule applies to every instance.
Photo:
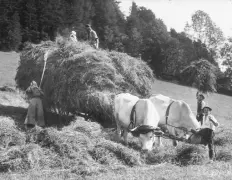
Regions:
[[119, 0], [120, 8], [129, 15], [132, 1], [137, 6], [151, 9], [157, 18], [163, 20], [168, 30], [184, 31], [186, 22], [197, 10], [203, 10], [221, 28], [225, 37], [232, 37], [232, 0]]

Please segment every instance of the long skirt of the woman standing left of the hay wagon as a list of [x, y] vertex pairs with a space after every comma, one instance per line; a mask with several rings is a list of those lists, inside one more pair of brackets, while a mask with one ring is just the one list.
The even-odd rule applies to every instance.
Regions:
[[25, 125], [45, 126], [43, 103], [40, 98], [32, 98], [27, 110]]

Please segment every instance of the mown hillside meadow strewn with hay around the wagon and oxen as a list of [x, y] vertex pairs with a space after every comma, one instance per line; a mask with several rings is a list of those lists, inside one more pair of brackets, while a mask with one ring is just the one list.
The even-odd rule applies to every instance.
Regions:
[[[0, 76], [0, 86], [12, 86], [19, 57], [16, 53], [0, 55], [5, 59], [2, 61], [0, 56], [0, 73], [4, 73]], [[153, 91], [182, 99], [196, 110], [196, 89], [157, 80]], [[213, 162], [208, 161], [204, 147], [196, 146], [197, 151], [191, 153], [191, 157], [185, 157], [181, 152], [189, 146], [180, 143], [174, 149], [169, 140], [164, 140], [163, 148], [144, 157], [135, 138], [130, 136], [129, 147], [125, 147], [112, 141], [114, 132], [110, 129], [83, 120], [59, 131], [54, 128], [47, 128], [45, 132], [38, 130], [33, 133], [33, 142], [25, 144], [25, 133], [17, 129], [17, 124], [23, 123], [27, 103], [18, 92], [0, 92], [0, 179], [232, 179], [232, 97], [210, 94], [206, 96], [206, 102], [220, 123], [216, 130], [216, 159]], [[9, 141], [15, 143], [14, 146], [3, 146], [7, 140], [3, 130], [11, 133]], [[45, 138], [38, 140], [44, 134]], [[24, 168], [20, 169], [17, 163]]]

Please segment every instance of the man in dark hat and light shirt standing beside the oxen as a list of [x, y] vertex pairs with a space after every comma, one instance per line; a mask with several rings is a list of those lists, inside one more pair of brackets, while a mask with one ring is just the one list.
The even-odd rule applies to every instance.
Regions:
[[217, 119], [211, 114], [212, 108], [209, 106], [205, 106], [203, 108], [203, 121], [201, 125], [201, 129], [207, 130], [207, 134], [209, 139], [206, 139], [208, 142], [209, 147], [209, 157], [210, 159], [213, 158], [213, 138], [214, 138], [214, 131], [215, 128], [219, 126]]

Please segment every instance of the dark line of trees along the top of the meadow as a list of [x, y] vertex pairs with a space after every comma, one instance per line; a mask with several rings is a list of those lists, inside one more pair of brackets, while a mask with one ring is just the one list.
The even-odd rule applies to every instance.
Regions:
[[[157, 77], [189, 82], [182, 72], [202, 61], [214, 67], [209, 69], [214, 69], [218, 89], [232, 90], [228, 55], [232, 41], [223, 43], [222, 31], [207, 13], [196, 11], [185, 31], [178, 33], [168, 31], [151, 10], [135, 2], [127, 17], [119, 5], [117, 0], [0, 0], [0, 50], [54, 40], [57, 34], [65, 36], [71, 30], [77, 32], [78, 40], [86, 40], [85, 24], [89, 23], [99, 36], [101, 48], [141, 58]], [[225, 60], [226, 72], [220, 70], [218, 58]]]

